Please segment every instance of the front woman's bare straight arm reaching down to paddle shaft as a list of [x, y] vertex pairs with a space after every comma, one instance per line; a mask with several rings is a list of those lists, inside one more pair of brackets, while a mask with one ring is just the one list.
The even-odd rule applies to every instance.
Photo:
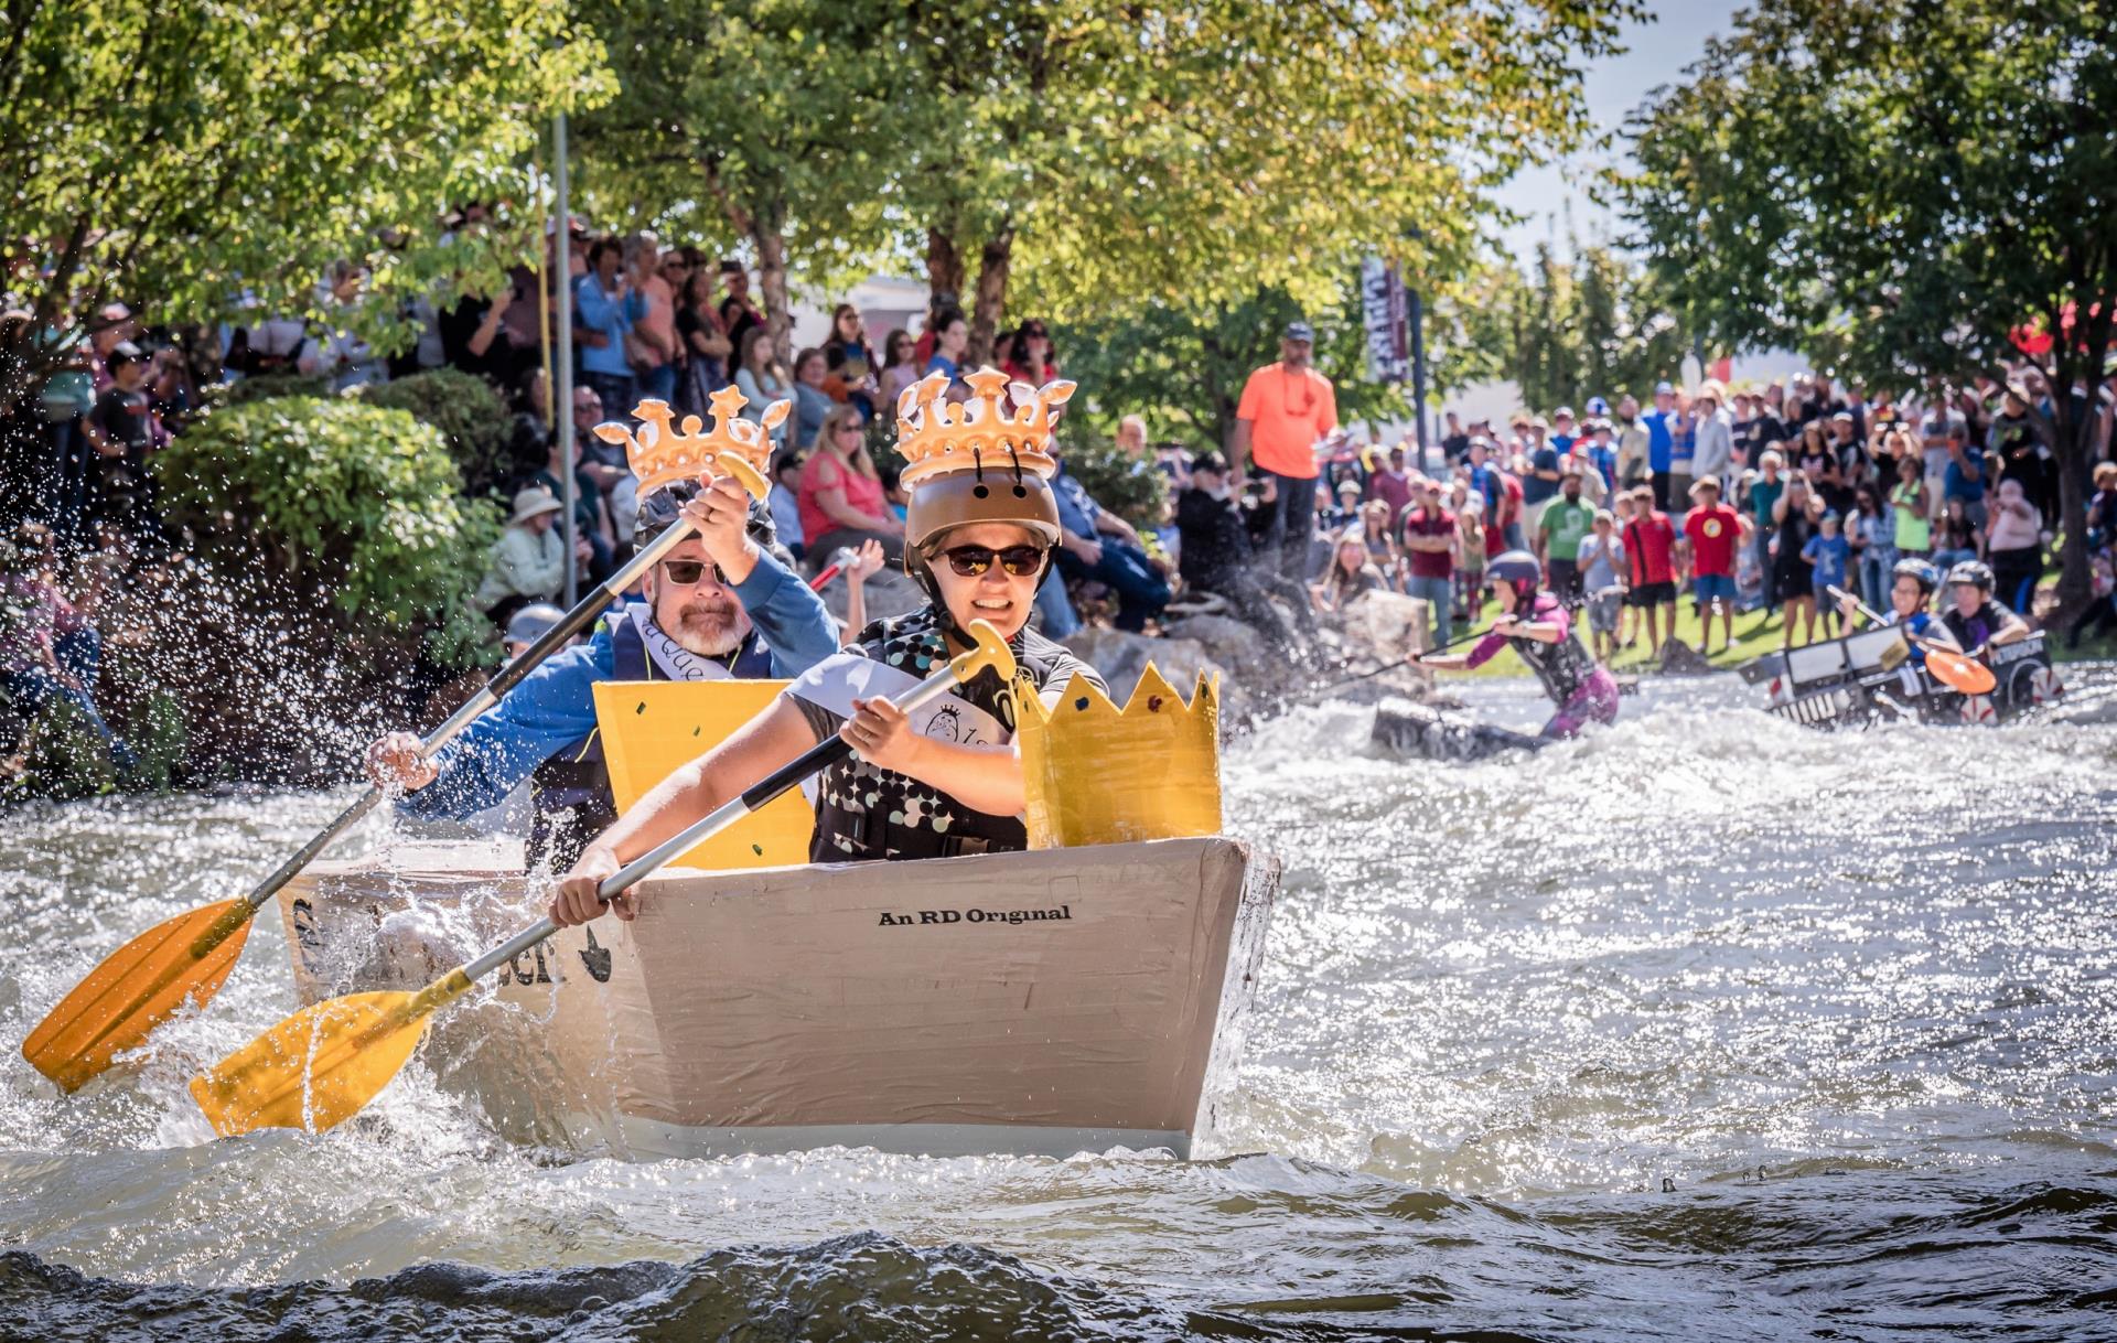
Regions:
[[[550, 919], [561, 928], [599, 917], [605, 905], [595, 888], [620, 866], [639, 858], [713, 807], [741, 796], [771, 771], [815, 746], [815, 729], [785, 695], [735, 729], [726, 741], [682, 765], [648, 790], [614, 826], [595, 837], [565, 877], [553, 888]], [[631, 892], [620, 892], [608, 909], [620, 919], [637, 913]]]

